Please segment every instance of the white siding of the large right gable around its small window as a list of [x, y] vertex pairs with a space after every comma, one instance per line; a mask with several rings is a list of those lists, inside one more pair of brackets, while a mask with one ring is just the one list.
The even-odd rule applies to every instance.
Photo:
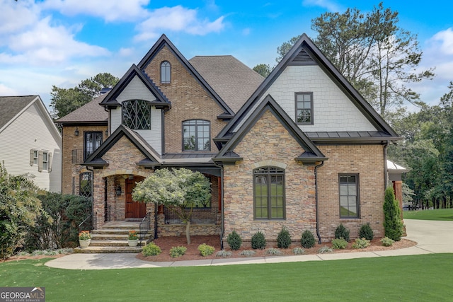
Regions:
[[314, 124], [299, 126], [302, 131], [376, 131], [319, 66], [288, 66], [261, 100], [268, 94], [272, 95], [289, 117], [295, 120], [296, 92], [313, 93]]

